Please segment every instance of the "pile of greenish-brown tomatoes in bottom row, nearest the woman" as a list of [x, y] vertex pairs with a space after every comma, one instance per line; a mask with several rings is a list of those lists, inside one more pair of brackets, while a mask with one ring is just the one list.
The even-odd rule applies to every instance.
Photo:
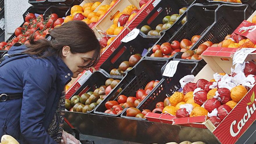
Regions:
[[[75, 112], [92, 111], [95, 107], [106, 98], [113, 88], [120, 82], [120, 80], [107, 79], [104, 86], [100, 86], [93, 92], [89, 91], [81, 95], [74, 95], [71, 100], [66, 99], [65, 109]], [[119, 88], [116, 95], [122, 91]]]

